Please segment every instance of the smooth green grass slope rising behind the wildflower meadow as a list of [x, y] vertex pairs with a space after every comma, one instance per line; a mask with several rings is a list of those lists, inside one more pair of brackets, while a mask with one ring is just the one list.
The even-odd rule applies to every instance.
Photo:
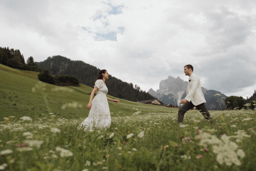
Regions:
[[[74, 87], [58, 87], [45, 83], [45, 87], [41, 87], [38, 83], [37, 72], [22, 71], [0, 65], [0, 120], [3, 117], [22, 116], [40, 117], [53, 113], [56, 117], [65, 118], [86, 118], [89, 111], [86, 106], [89, 102], [92, 88], [80, 84], [79, 88]], [[34, 92], [32, 89], [34, 88]], [[45, 90], [44, 90], [45, 88]], [[110, 98], [115, 98], [107, 95]], [[141, 114], [150, 112], [169, 113], [176, 109], [165, 108], [163, 106], [154, 106], [142, 104], [127, 100], [119, 99], [120, 102], [114, 103], [109, 101], [110, 112], [115, 116], [129, 116], [136, 109]], [[61, 110], [64, 104], [76, 104], [76, 108], [67, 107]], [[81, 108], [79, 108], [81, 104]], [[120, 112], [120, 113], [119, 113]]]

